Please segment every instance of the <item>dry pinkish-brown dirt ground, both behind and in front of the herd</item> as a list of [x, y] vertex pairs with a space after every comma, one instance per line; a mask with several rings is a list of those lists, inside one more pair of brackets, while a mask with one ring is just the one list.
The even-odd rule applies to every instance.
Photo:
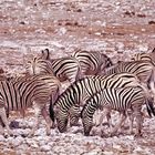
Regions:
[[[0, 0], [0, 66], [9, 75], [24, 72], [24, 62], [49, 48], [53, 58], [76, 48], [102, 50], [113, 62], [155, 48], [154, 0]], [[11, 117], [11, 116], [10, 116]], [[13, 118], [13, 115], [11, 120]], [[21, 126], [32, 126], [33, 117]], [[82, 128], [82, 126], [81, 126]], [[85, 137], [78, 128], [48, 137], [43, 124], [33, 138], [0, 136], [0, 154], [146, 155], [155, 154], [155, 120], [145, 118], [142, 138], [131, 135]], [[106, 130], [105, 130], [106, 131]]]

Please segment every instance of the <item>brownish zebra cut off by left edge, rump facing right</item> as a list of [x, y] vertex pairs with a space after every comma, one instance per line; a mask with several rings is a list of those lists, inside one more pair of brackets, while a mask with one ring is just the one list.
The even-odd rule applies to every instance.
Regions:
[[[8, 130], [9, 134], [12, 131], [9, 127], [6, 111], [21, 111], [24, 112], [28, 107], [34, 107], [35, 123], [30, 133], [34, 134], [34, 131], [39, 125], [39, 115], [42, 114], [46, 122], [46, 134], [50, 134], [51, 120], [45, 110], [45, 104], [50, 102], [51, 97], [59, 93], [60, 81], [55, 76], [51, 75], [32, 75], [20, 76], [11, 80], [0, 82], [0, 117], [2, 123]], [[54, 102], [52, 99], [52, 101]], [[52, 116], [54, 122], [54, 117]], [[3, 130], [1, 131], [3, 134]]]

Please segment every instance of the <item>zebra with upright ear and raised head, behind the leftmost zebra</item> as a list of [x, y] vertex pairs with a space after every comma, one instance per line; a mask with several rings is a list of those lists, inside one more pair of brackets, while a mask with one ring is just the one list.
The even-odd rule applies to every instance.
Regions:
[[28, 61], [25, 70], [30, 74], [50, 73], [55, 75], [61, 82], [69, 80], [71, 83], [80, 79], [81, 71], [78, 60], [73, 56], [50, 59], [48, 49], [41, 55]]

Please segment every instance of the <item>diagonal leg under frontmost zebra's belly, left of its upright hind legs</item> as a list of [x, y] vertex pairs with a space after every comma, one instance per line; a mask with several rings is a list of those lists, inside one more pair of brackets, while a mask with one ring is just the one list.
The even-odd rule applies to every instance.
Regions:
[[115, 135], [115, 133], [117, 132], [117, 130], [122, 126], [122, 123], [126, 120], [126, 114], [125, 113], [121, 113], [121, 120], [120, 122], [115, 125], [115, 127], [112, 130], [111, 132], [111, 136]]

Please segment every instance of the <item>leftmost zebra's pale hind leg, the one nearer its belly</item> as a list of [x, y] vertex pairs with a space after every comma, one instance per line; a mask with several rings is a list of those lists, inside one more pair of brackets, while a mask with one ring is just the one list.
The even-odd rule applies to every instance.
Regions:
[[33, 136], [34, 135], [34, 132], [38, 130], [39, 127], [39, 116], [41, 115], [41, 108], [40, 106], [33, 102], [33, 108], [34, 108], [34, 116], [35, 116], [35, 123], [34, 123], [34, 126], [33, 128], [31, 130], [29, 136]]

